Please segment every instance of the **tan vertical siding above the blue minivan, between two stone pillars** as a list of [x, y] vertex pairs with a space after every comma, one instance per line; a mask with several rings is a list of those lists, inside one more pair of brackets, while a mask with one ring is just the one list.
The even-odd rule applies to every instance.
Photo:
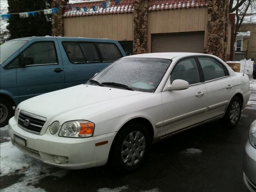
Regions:
[[64, 36], [133, 41], [133, 14], [66, 17]]

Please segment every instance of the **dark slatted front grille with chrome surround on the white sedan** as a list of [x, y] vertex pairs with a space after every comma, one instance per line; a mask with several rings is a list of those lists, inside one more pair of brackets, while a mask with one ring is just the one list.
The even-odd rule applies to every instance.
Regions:
[[41, 117], [26, 111], [20, 110], [18, 116], [18, 126], [28, 132], [40, 134], [44, 123], [46, 122], [45, 117]]

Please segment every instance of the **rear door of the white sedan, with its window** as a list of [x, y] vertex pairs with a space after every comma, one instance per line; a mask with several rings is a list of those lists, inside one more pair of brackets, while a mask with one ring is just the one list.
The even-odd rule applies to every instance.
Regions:
[[234, 94], [234, 82], [226, 67], [212, 57], [198, 56], [204, 74], [207, 90], [206, 119], [216, 118], [224, 114], [225, 109]]

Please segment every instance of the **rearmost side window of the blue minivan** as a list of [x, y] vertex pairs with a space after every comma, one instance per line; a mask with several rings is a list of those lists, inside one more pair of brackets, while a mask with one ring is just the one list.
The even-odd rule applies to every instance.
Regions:
[[103, 61], [115, 61], [122, 57], [122, 54], [115, 44], [98, 43], [97, 45], [102, 54]]

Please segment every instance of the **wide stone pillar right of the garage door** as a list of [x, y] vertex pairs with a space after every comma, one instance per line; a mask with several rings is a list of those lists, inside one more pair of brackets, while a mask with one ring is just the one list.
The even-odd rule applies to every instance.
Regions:
[[208, 0], [206, 53], [226, 60], [228, 42], [228, 0]]

